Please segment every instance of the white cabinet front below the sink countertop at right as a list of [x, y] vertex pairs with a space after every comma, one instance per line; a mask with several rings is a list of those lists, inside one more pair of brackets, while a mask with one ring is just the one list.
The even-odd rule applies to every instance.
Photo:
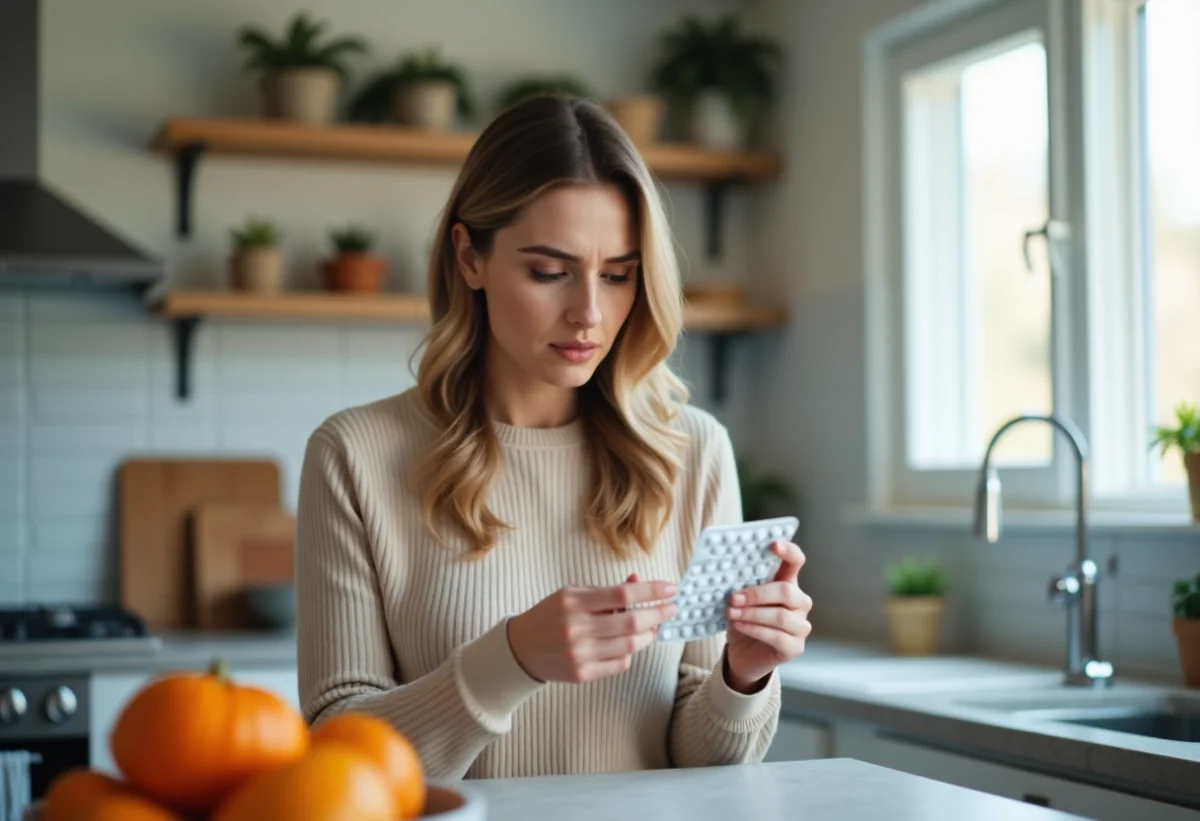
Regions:
[[1183, 807], [881, 736], [865, 725], [839, 724], [834, 750], [838, 757], [858, 759], [1096, 821], [1196, 821], [1200, 817], [1196, 810]]

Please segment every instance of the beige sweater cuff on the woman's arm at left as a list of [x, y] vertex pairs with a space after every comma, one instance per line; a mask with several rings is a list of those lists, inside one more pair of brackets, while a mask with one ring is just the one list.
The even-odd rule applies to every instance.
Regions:
[[508, 617], [460, 648], [458, 679], [472, 712], [496, 726], [506, 726], [512, 712], [546, 685], [512, 655]]

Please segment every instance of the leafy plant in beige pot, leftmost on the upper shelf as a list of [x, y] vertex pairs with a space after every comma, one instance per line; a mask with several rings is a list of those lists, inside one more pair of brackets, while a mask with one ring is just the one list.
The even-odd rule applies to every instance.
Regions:
[[311, 124], [334, 119], [337, 91], [347, 77], [344, 58], [366, 52], [366, 43], [360, 37], [322, 41], [325, 26], [301, 12], [278, 42], [262, 29], [241, 29], [238, 41], [250, 52], [245, 67], [263, 72], [259, 88], [268, 118]]

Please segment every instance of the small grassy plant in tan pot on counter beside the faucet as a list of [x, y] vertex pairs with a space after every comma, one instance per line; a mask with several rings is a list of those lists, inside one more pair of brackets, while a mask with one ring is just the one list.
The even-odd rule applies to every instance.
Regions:
[[935, 559], [906, 556], [884, 571], [890, 595], [884, 605], [892, 647], [901, 655], [932, 655], [942, 643], [946, 574]]

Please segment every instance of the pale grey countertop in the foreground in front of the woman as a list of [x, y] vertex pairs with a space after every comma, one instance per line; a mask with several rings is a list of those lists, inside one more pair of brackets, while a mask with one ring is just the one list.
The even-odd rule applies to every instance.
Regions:
[[488, 821], [1054, 821], [1056, 810], [848, 759], [464, 781]]

